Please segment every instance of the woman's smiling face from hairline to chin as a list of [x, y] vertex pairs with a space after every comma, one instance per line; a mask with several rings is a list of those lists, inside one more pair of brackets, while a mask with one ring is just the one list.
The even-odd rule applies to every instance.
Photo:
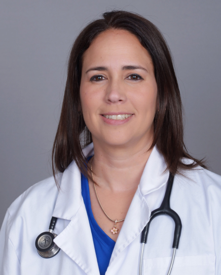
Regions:
[[93, 142], [152, 142], [157, 83], [148, 51], [126, 30], [100, 34], [83, 56], [80, 98]]

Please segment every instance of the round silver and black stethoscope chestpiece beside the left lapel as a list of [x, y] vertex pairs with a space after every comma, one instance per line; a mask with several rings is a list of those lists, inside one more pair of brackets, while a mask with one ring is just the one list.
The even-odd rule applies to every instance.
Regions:
[[54, 243], [54, 238], [57, 236], [53, 233], [56, 221], [57, 218], [52, 217], [49, 231], [41, 233], [35, 240], [35, 247], [43, 258], [52, 258], [60, 251], [60, 248]]

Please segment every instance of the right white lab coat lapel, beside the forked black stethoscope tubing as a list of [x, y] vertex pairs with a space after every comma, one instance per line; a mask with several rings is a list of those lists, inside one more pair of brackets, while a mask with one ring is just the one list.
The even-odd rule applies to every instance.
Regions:
[[140, 184], [133, 197], [121, 232], [118, 236], [110, 264], [130, 243], [142, 232], [150, 220], [151, 211], [146, 195], [164, 186], [169, 172], [165, 172], [166, 164], [157, 147], [153, 148], [151, 156], [145, 165]]

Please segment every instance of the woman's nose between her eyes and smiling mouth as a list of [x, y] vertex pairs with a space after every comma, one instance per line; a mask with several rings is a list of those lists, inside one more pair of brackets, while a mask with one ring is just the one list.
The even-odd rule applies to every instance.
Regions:
[[123, 103], [126, 101], [126, 91], [123, 83], [120, 80], [114, 80], [108, 82], [106, 87], [105, 100], [107, 103]]

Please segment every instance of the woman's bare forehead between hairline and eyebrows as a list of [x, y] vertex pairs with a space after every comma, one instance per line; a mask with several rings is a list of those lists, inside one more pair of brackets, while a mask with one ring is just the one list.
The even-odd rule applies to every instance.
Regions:
[[144, 65], [152, 63], [152, 59], [137, 37], [122, 29], [111, 29], [101, 33], [83, 55], [83, 67], [98, 65], [97, 63], [106, 66], [120, 63], [128, 65], [128, 62]]

